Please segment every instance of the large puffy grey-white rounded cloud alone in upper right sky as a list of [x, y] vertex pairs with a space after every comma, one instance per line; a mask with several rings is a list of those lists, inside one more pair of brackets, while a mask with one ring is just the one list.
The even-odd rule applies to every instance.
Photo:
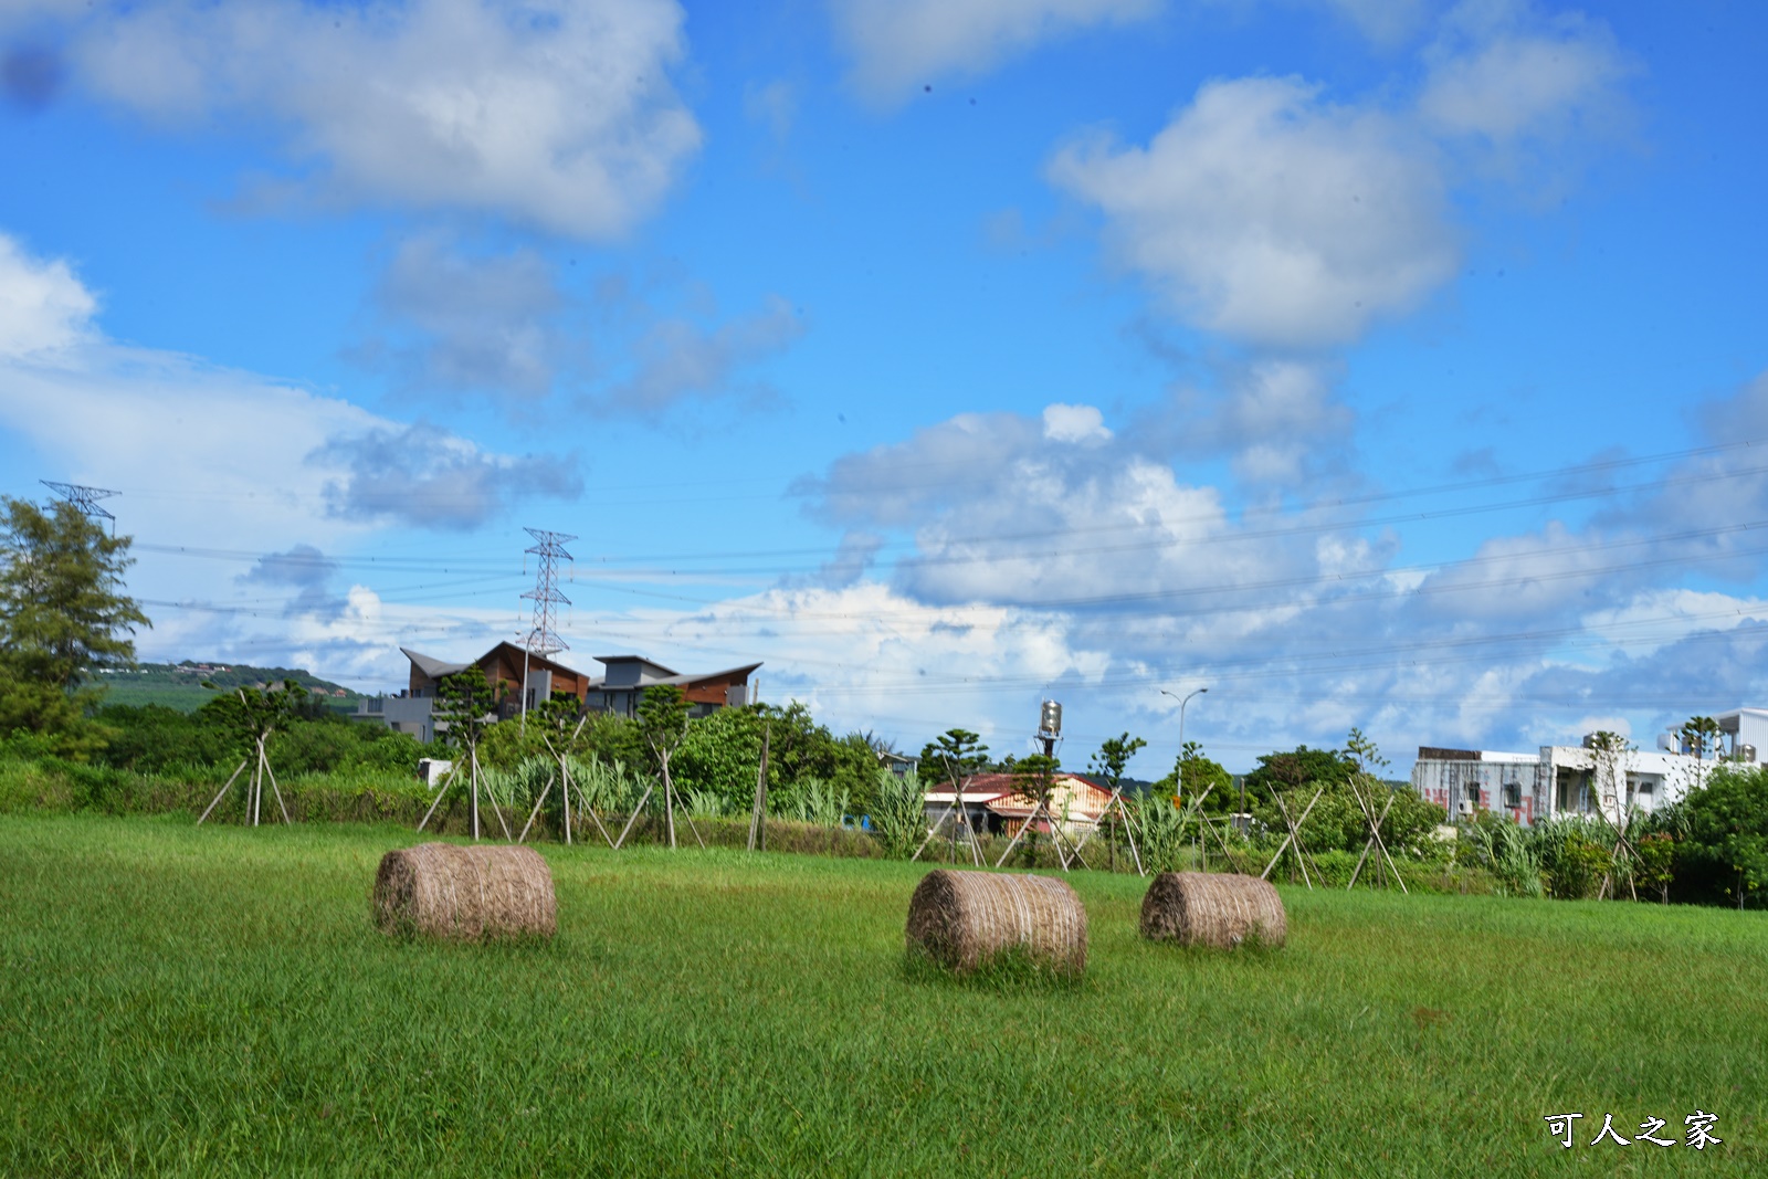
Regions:
[[1457, 265], [1430, 145], [1298, 78], [1208, 83], [1146, 148], [1084, 140], [1048, 173], [1181, 318], [1254, 345], [1356, 339]]

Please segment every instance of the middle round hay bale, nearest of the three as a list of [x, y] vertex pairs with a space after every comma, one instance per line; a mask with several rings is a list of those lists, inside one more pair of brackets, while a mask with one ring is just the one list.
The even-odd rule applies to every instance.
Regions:
[[1040, 967], [1078, 976], [1087, 910], [1066, 880], [939, 868], [909, 900], [909, 947], [958, 972], [1022, 949]]

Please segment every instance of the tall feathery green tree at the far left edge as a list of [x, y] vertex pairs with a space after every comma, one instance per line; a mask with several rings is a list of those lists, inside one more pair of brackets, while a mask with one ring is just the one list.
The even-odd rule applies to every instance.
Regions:
[[129, 544], [72, 504], [0, 498], [0, 652], [16, 679], [72, 695], [134, 665], [133, 635], [152, 624], [122, 592]]

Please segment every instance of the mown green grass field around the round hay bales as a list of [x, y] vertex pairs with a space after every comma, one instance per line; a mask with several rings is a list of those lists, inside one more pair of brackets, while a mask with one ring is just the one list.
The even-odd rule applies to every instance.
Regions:
[[1768, 1174], [1768, 914], [1285, 887], [1218, 955], [1077, 873], [1084, 983], [949, 981], [918, 864], [545, 847], [553, 942], [437, 946], [368, 917], [412, 841], [0, 818], [0, 1170]]

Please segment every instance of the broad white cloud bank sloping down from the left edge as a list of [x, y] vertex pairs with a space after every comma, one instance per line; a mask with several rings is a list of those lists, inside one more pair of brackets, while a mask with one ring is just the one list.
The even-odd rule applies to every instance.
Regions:
[[[83, 318], [92, 297], [64, 263], [21, 258], [0, 235], [0, 308], [11, 308], [11, 323], [60, 325], [14, 332], [60, 346], [0, 354], [0, 428], [53, 454], [58, 477], [124, 491], [118, 516], [145, 544], [338, 551], [371, 520], [460, 527], [511, 497], [575, 486], [559, 460], [488, 453], [309, 389], [108, 341]], [[364, 468], [375, 458], [385, 468]], [[442, 472], [460, 486], [426, 495]], [[389, 479], [415, 495], [373, 502]], [[329, 516], [327, 504], [339, 511]], [[145, 596], [175, 597], [187, 585], [161, 559], [143, 557], [138, 573]]]

